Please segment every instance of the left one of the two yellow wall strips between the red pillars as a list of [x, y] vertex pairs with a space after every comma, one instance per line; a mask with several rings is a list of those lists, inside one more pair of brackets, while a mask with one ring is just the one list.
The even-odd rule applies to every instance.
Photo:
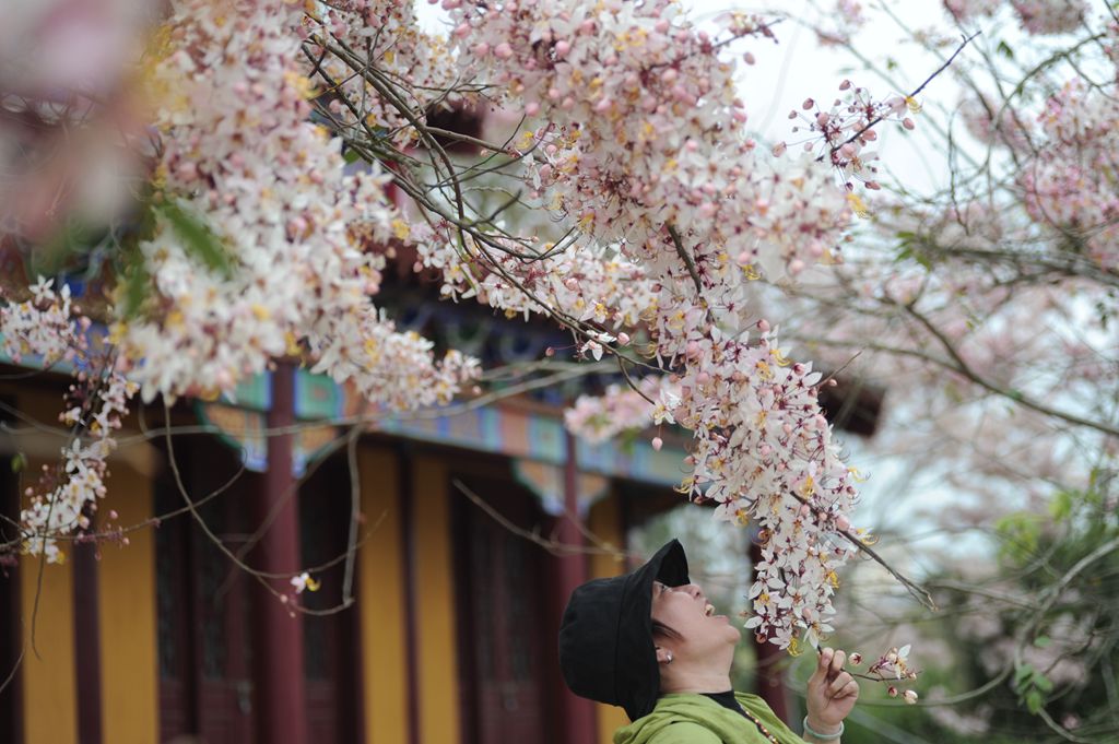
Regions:
[[358, 552], [365, 744], [408, 741], [407, 629], [397, 458], [365, 446], [358, 454], [365, 543]]

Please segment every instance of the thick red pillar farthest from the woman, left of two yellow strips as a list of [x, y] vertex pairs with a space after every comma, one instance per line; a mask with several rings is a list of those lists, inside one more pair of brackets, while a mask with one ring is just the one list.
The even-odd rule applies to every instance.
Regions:
[[[294, 423], [295, 368], [276, 365], [272, 374], [269, 430]], [[269, 470], [257, 495], [256, 518], [270, 520], [255, 550], [254, 567], [267, 573], [294, 574], [300, 567], [299, 500], [292, 475], [291, 434], [269, 437]], [[283, 578], [272, 586], [290, 591]], [[303, 676], [303, 616], [256, 586], [256, 725], [261, 742], [307, 744], [307, 694]]]

